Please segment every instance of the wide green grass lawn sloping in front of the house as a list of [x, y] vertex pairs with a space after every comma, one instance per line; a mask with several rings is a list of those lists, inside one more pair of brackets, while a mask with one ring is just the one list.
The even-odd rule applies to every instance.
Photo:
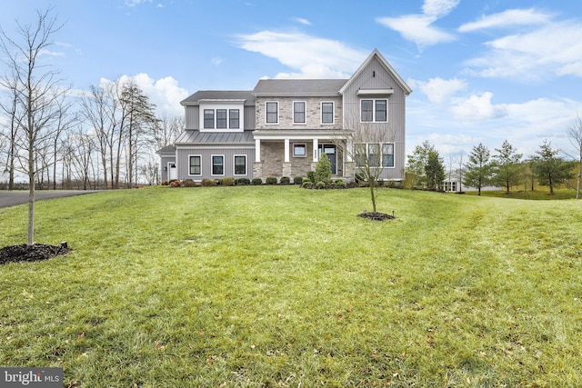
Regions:
[[[36, 204], [0, 267], [0, 365], [65, 386], [580, 386], [582, 202], [296, 186]], [[0, 210], [25, 242], [25, 206]]]

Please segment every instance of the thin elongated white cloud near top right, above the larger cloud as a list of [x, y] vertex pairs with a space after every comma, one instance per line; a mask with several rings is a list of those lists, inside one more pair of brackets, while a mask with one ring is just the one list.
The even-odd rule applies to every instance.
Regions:
[[507, 27], [514, 25], [545, 25], [551, 20], [551, 15], [538, 12], [536, 9], [508, 9], [493, 15], [483, 15], [476, 22], [461, 25], [458, 31], [467, 33], [487, 28]]

